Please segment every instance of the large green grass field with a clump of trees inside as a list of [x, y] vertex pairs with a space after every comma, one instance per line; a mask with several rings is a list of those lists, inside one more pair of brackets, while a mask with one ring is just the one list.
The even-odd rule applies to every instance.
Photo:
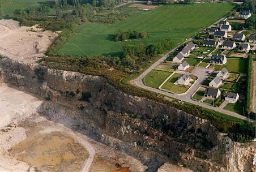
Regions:
[[[117, 55], [125, 44], [149, 45], [166, 38], [177, 45], [223, 17], [232, 7], [231, 3], [163, 5], [155, 10], [136, 12], [115, 24], [86, 23], [76, 29], [57, 54]], [[146, 31], [149, 38], [114, 42], [113, 35], [120, 29]]]

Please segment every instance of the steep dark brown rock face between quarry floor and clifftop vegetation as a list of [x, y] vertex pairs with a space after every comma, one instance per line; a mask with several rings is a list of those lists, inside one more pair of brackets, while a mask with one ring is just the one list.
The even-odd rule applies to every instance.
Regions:
[[[89, 128], [103, 143], [157, 170], [165, 162], [193, 171], [254, 171], [253, 143], [239, 144], [207, 120], [129, 96], [99, 76], [0, 59], [0, 81], [45, 100], [40, 113]], [[62, 121], [58, 121], [62, 123]]]

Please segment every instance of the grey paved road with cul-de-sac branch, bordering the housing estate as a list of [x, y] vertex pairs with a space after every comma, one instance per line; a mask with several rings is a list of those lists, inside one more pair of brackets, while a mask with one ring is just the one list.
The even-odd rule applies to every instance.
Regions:
[[[223, 20], [223, 19], [225, 19], [225, 18], [221, 18], [220, 20]], [[215, 23], [218, 23], [220, 20], [216, 21]], [[212, 27], [212, 26], [214, 26], [214, 24], [212, 24], [210, 27]], [[189, 41], [193, 40], [193, 39], [194, 39], [193, 37], [189, 38]], [[224, 114], [227, 114], [227, 115], [231, 115], [232, 117], [236, 117], [236, 118], [240, 118], [240, 119], [244, 119], [244, 120], [248, 121], [247, 117], [244, 117], [244, 116], [242, 116], [240, 114], [234, 113], [232, 111], [224, 110], [224, 109], [221, 109], [221, 108], [216, 108], [214, 106], [207, 105], [207, 104], [204, 104], [202, 102], [194, 101], [193, 99], [191, 99], [191, 96], [193, 95], [193, 93], [195, 91], [197, 91], [197, 89], [200, 87], [199, 86], [200, 83], [202, 83], [204, 78], [207, 77], [207, 75], [208, 75], [207, 74], [207, 72], [208, 72], [207, 69], [197, 67], [197, 69], [194, 70], [194, 72], [192, 74], [198, 76], [198, 80], [193, 84], [192, 88], [190, 88], [190, 90], [186, 94], [183, 94], [183, 95], [178, 95], [178, 94], [173, 94], [173, 93], [168, 93], [168, 92], [160, 91], [159, 89], [151, 88], [151, 87], [148, 87], [148, 86], [144, 85], [144, 83], [142, 82], [142, 79], [153, 68], [155, 68], [156, 66], [160, 65], [160, 63], [162, 63], [168, 57], [168, 55], [170, 53], [172, 53], [174, 50], [179, 48], [181, 45], [185, 44], [185, 42], [183, 42], [182, 44], [178, 45], [176, 48], [174, 48], [173, 50], [169, 51], [167, 54], [163, 55], [163, 57], [161, 57], [159, 60], [157, 60], [155, 63], [153, 63], [153, 65], [151, 65], [151, 67], [147, 68], [147, 70], [144, 71], [138, 78], [136, 78], [135, 80], [131, 80], [130, 83], [134, 84], [134, 85], [136, 85], [136, 86], [138, 86], [140, 88], [152, 91], [152, 92], [161, 93], [161, 94], [164, 94], [165, 96], [168, 96], [168, 97], [177, 98], [178, 100], [181, 100], [181, 101], [185, 101], [185, 102], [189, 102], [189, 103], [194, 104], [194, 105], [202, 106], [202, 108], [212, 109], [212, 110], [215, 110], [215, 111], [219, 111], [220, 113], [224, 113]]]

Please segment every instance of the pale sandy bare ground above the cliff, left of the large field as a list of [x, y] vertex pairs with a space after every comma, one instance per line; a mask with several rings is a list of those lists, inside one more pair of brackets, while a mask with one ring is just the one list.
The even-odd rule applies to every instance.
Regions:
[[[31, 28], [36, 32], [29, 31]], [[21, 62], [42, 57], [56, 37], [56, 33], [36, 26], [19, 27], [18, 21], [0, 20], [0, 54]]]

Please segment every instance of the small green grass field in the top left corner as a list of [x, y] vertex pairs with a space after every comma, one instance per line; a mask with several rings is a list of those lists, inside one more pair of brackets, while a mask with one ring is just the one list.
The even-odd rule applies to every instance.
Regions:
[[38, 6], [46, 0], [0, 0], [0, 6], [5, 14], [12, 14], [15, 9], [25, 9]]

